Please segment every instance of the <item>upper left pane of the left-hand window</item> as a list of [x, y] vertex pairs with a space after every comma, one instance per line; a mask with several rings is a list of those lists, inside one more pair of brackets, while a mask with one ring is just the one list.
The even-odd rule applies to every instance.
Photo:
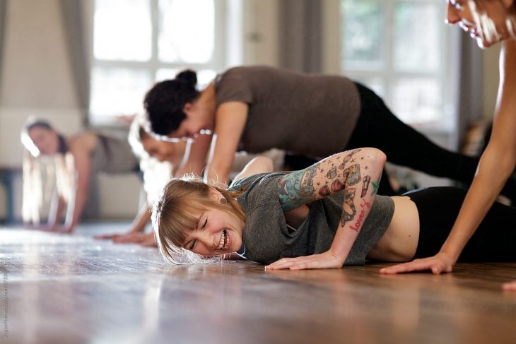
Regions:
[[93, 30], [96, 59], [147, 61], [151, 58], [149, 0], [96, 0]]

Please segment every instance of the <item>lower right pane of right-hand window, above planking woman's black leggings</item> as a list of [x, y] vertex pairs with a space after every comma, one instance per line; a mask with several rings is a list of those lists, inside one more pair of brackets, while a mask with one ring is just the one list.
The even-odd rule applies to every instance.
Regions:
[[428, 78], [400, 78], [394, 83], [392, 108], [401, 121], [442, 126], [440, 83]]

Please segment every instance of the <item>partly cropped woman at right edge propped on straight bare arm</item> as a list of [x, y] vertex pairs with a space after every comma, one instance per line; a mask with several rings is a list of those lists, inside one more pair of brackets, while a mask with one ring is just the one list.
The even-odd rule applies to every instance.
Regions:
[[[491, 139], [483, 152], [471, 188], [450, 236], [439, 251], [415, 261], [382, 269], [382, 273], [431, 270], [450, 273], [475, 231], [481, 230], [516, 165], [516, 1], [449, 0], [447, 23], [469, 32], [481, 48], [500, 42], [500, 85]], [[514, 221], [512, 221], [514, 224]], [[493, 231], [498, 230], [492, 227]], [[516, 291], [516, 281], [504, 285]]]

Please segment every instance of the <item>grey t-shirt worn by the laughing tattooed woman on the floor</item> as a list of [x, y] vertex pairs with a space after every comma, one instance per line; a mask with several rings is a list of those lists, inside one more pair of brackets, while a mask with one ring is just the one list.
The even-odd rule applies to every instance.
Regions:
[[[305, 223], [291, 232], [278, 198], [278, 181], [284, 174], [256, 174], [230, 186], [232, 191], [245, 190], [237, 201], [246, 214], [243, 244], [245, 256], [251, 261], [269, 264], [283, 257], [319, 254], [332, 245], [341, 218], [344, 194], [339, 192], [312, 202]], [[346, 265], [365, 263], [365, 257], [389, 227], [393, 214], [392, 199], [376, 196]]]

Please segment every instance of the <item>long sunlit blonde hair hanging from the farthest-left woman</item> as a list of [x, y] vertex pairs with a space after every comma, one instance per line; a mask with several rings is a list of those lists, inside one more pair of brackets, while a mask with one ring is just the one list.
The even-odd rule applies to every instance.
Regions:
[[50, 203], [57, 191], [68, 203], [75, 196], [74, 156], [56, 153], [42, 156], [28, 135], [33, 127], [53, 130], [45, 121], [30, 118], [23, 128], [20, 139], [25, 147], [23, 154], [23, 201], [24, 223], [40, 224], [43, 204]]

